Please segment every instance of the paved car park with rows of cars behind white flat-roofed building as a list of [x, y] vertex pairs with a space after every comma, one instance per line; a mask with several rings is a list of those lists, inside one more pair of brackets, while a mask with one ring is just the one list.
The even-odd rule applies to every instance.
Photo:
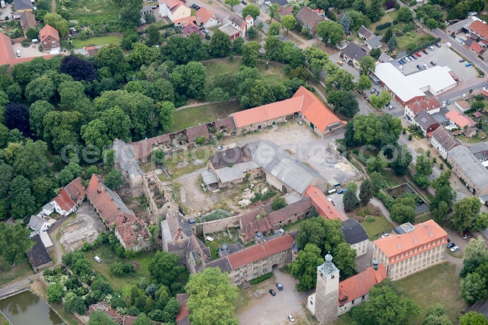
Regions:
[[[448, 66], [452, 72], [459, 77], [460, 81], [468, 81], [473, 78], [476, 78], [478, 76], [478, 73], [474, 69], [474, 67], [466, 67], [465, 64], [466, 62], [459, 62], [462, 58], [456, 54], [456, 52], [451, 51], [447, 46], [446, 43], [442, 42], [440, 43], [441, 47], [438, 48], [435, 45], [432, 45], [434, 50], [431, 51], [429, 49], [426, 49], [428, 54], [425, 54], [422, 51], [419, 51], [418, 53], [422, 55], [420, 58], [412, 54], [413, 57], [415, 57], [414, 61], [407, 62], [406, 64], [403, 64], [403, 73], [405, 75], [409, 75], [412, 73], [415, 73], [417, 71], [420, 71], [417, 69], [417, 64], [423, 66], [424, 64], [427, 64], [429, 68], [432, 67], [432, 64], [430, 64], [430, 61], [433, 61], [436, 63], [436, 65], [440, 66]], [[400, 60], [401, 58], [397, 58], [397, 61]], [[424, 70], [424, 68], [423, 68]]]

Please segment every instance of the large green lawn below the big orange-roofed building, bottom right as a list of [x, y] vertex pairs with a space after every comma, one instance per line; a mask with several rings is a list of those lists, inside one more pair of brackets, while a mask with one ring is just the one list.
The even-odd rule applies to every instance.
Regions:
[[[443, 263], [425, 271], [414, 273], [398, 281], [408, 298], [425, 309], [432, 304], [441, 304], [447, 310], [449, 319], [458, 324], [458, 315], [468, 305], [459, 298], [460, 278], [453, 264]], [[413, 324], [421, 324], [425, 312]]]

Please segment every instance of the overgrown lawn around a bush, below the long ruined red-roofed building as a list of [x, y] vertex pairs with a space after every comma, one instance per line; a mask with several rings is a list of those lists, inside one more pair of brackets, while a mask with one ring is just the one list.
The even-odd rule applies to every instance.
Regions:
[[[132, 286], [132, 284], [139, 284], [141, 278], [145, 278], [146, 281], [149, 281], [149, 279], [151, 278], [148, 265], [155, 254], [154, 251], [150, 251], [134, 259], [127, 260], [119, 258], [112, 251], [108, 244], [103, 244], [95, 251], [84, 252], [83, 254], [88, 259], [88, 261], [90, 261], [93, 269], [98, 274], [101, 274], [105, 279], [107, 279], [110, 285], [112, 285], [112, 287], [114, 288], [115, 292], [122, 290], [122, 292], [125, 293], [129, 291], [129, 288]], [[95, 262], [95, 260], [93, 259], [95, 256], [100, 257], [102, 259], [102, 263]], [[113, 275], [110, 271], [110, 266], [117, 262], [133, 264], [136, 267], [136, 273], [133, 273], [126, 277], [117, 277]]]

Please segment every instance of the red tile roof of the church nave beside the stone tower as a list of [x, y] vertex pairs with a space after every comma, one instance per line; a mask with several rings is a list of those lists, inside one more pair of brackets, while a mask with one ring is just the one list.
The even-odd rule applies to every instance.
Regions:
[[344, 280], [339, 283], [338, 305], [344, 305], [366, 295], [373, 286], [382, 282], [383, 279], [386, 279], [385, 265], [379, 264], [377, 271], [368, 267], [363, 272]]

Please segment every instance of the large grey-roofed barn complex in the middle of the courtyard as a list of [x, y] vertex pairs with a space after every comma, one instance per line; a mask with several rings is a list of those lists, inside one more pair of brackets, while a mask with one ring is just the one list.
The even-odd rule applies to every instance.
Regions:
[[321, 190], [327, 188], [327, 182], [315, 170], [275, 143], [265, 140], [214, 155], [208, 162], [208, 170], [215, 174], [222, 187], [230, 187], [246, 179], [265, 177], [266, 182], [278, 190], [284, 193], [296, 192], [300, 196], [310, 184]]

